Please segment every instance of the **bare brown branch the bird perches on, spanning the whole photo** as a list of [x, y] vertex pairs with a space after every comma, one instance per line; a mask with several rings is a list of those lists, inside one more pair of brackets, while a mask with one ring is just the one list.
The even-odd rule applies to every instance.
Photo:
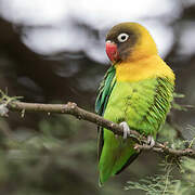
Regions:
[[[119, 125], [104, 119], [103, 117], [95, 115], [93, 113], [87, 112], [77, 106], [76, 103], [68, 102], [67, 104], [39, 104], [39, 103], [25, 103], [20, 101], [6, 101], [0, 104], [0, 115], [8, 116], [8, 110], [12, 112], [42, 112], [47, 114], [57, 113], [57, 114], [68, 114], [77, 117], [78, 119], [87, 120], [98, 126], [104, 127], [115, 134], [122, 135], [123, 129]], [[169, 155], [173, 157], [187, 156], [195, 158], [195, 151], [187, 147], [184, 150], [174, 150], [167, 146], [166, 143], [161, 144], [156, 142], [153, 147], [147, 144], [146, 138], [140, 134], [138, 131], [131, 130], [131, 133], [128, 135], [138, 140], [134, 148], [136, 151], [153, 151], [158, 154]]]

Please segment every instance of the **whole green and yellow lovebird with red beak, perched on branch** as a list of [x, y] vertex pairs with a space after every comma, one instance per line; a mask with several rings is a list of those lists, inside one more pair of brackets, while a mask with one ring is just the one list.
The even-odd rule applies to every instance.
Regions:
[[123, 136], [99, 127], [100, 185], [127, 168], [138, 156], [130, 130], [147, 136], [153, 146], [173, 99], [174, 74], [158, 55], [145, 27], [121, 23], [106, 36], [110, 61], [95, 102], [95, 112], [123, 128]]

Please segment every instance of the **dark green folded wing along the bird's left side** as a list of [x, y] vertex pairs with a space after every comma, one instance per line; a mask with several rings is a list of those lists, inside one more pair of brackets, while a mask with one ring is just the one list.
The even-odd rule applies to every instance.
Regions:
[[[99, 95], [98, 95], [96, 102], [95, 102], [95, 112], [101, 116], [104, 115], [108, 99], [109, 99], [113, 88], [116, 83], [115, 75], [116, 75], [116, 69], [114, 66], [110, 66], [107, 70], [106, 75], [104, 76], [104, 79], [101, 82], [101, 86], [99, 88]], [[100, 159], [103, 144], [104, 144], [103, 128], [98, 127], [98, 132], [99, 132], [98, 158]]]

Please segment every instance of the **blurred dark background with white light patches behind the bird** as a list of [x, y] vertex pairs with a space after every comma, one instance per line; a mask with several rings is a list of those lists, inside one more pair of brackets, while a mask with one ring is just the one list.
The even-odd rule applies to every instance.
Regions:
[[[104, 40], [119, 22], [146, 26], [177, 75], [180, 104], [195, 105], [195, 0], [0, 0], [0, 89], [26, 102], [67, 103], [94, 112], [108, 68]], [[172, 112], [190, 139], [195, 112]], [[143, 153], [98, 186], [95, 125], [72, 116], [10, 113], [0, 120], [0, 194], [123, 195], [127, 181], [159, 172]], [[140, 192], [140, 194], [143, 194]]]

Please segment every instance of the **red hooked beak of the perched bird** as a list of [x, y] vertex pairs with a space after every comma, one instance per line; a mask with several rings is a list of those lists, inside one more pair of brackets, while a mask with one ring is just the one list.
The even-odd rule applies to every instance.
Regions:
[[110, 41], [106, 41], [106, 53], [109, 60], [115, 63], [119, 60], [119, 54], [117, 51], [117, 44]]

